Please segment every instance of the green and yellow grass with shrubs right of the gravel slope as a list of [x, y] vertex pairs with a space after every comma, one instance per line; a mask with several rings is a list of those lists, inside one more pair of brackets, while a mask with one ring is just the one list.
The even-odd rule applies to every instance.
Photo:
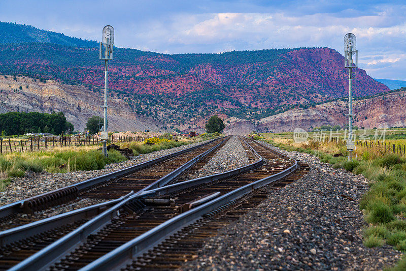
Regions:
[[[358, 131], [362, 133], [362, 131]], [[310, 133], [310, 139], [313, 133]], [[344, 133], [343, 133], [344, 135]], [[382, 142], [373, 148], [357, 147], [353, 162], [346, 160], [346, 142], [309, 140], [295, 143], [293, 133], [251, 134], [288, 151], [309, 153], [329, 163], [333, 168], [344, 168], [369, 179], [370, 189], [360, 199], [359, 207], [368, 226], [364, 229], [364, 245], [380, 247], [383, 244], [406, 252], [406, 158], [384, 148]], [[406, 144], [406, 129], [389, 129], [387, 144]], [[333, 155], [342, 155], [334, 157]], [[393, 270], [404, 270], [406, 257]]]

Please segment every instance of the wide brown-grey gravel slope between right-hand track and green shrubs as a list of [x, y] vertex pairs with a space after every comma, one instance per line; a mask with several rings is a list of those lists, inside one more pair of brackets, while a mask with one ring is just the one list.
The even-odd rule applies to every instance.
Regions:
[[381, 270], [400, 258], [388, 245], [362, 244], [366, 223], [358, 204], [368, 190], [366, 178], [273, 148], [308, 163], [309, 174], [269, 190], [264, 202], [219, 230], [181, 269]]

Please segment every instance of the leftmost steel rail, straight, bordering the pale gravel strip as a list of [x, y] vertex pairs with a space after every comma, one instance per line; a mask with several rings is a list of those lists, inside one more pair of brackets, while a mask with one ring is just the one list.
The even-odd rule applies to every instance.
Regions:
[[1, 206], [0, 207], [0, 218], [6, 217], [6, 216], [9, 216], [9, 215], [12, 215], [12, 214], [16, 214], [16, 213], [22, 213], [24, 203], [26, 203], [26, 202], [33, 201], [33, 200], [36, 200], [36, 199], [40, 199], [40, 198], [46, 197], [46, 196], [50, 196], [52, 198], [57, 198], [58, 196], [66, 196], [67, 194], [74, 194], [74, 193], [77, 193], [77, 192], [79, 192], [81, 190], [84, 190], [84, 189], [90, 188], [92, 186], [107, 182], [108, 180], [111, 180], [111, 179], [114, 179], [114, 178], [117, 178], [117, 177], [121, 177], [121, 176], [130, 174], [130, 173], [135, 172], [135, 171], [139, 171], [141, 169], [144, 169], [144, 168], [147, 168], [149, 166], [155, 165], [155, 164], [157, 164], [159, 162], [162, 162], [162, 161], [165, 161], [167, 159], [171, 159], [173, 157], [176, 157], [176, 156], [182, 155], [184, 153], [190, 152], [193, 149], [196, 149], [198, 147], [210, 144], [211, 142], [213, 142], [214, 140], [217, 140], [217, 139], [219, 139], [219, 138], [215, 138], [215, 139], [209, 140], [209, 141], [207, 141], [205, 143], [199, 144], [197, 146], [193, 146], [193, 147], [190, 147], [190, 148], [187, 148], [187, 149], [183, 149], [183, 150], [180, 150], [179, 152], [176, 152], [176, 153], [173, 153], [173, 154], [161, 156], [161, 157], [158, 157], [156, 159], [146, 161], [146, 162], [138, 164], [138, 165], [130, 166], [130, 167], [127, 167], [127, 168], [124, 168], [124, 169], [120, 169], [120, 170], [105, 174], [105, 175], [97, 176], [97, 177], [85, 180], [84, 182], [80, 182], [80, 183], [77, 183], [77, 184], [74, 184], [74, 185], [71, 185], [71, 186], [56, 189], [56, 190], [53, 190], [53, 191], [50, 191], [50, 192], [47, 192], [47, 193], [43, 193], [43, 194], [40, 194], [40, 195], [37, 195], [37, 196], [33, 196], [33, 197], [30, 197], [30, 198], [26, 198], [26, 199], [23, 199], [23, 200], [19, 200], [19, 201], [16, 201], [16, 202]]

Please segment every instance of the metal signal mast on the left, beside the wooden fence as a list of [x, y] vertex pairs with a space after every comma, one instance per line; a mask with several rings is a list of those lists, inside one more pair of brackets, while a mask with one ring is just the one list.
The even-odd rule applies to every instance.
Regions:
[[109, 60], [113, 59], [113, 44], [114, 44], [114, 28], [111, 25], [103, 27], [103, 39], [100, 42], [99, 58], [105, 61], [105, 103], [104, 107], [104, 124], [103, 132], [101, 132], [101, 141], [103, 141], [103, 154], [107, 156], [107, 140], [109, 135], [107, 132], [107, 78], [109, 74]]

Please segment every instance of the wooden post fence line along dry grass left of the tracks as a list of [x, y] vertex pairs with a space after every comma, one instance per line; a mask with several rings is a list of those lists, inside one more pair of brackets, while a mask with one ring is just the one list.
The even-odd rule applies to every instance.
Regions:
[[[108, 142], [142, 142], [148, 139], [148, 136], [113, 136], [109, 135]], [[54, 147], [66, 146], [92, 146], [100, 145], [101, 140], [98, 136], [52, 136], [39, 137], [31, 136], [19, 140], [11, 140], [10, 138], [0, 138], [0, 154], [22, 153], [22, 152], [39, 152], [41, 150], [49, 150]]]

